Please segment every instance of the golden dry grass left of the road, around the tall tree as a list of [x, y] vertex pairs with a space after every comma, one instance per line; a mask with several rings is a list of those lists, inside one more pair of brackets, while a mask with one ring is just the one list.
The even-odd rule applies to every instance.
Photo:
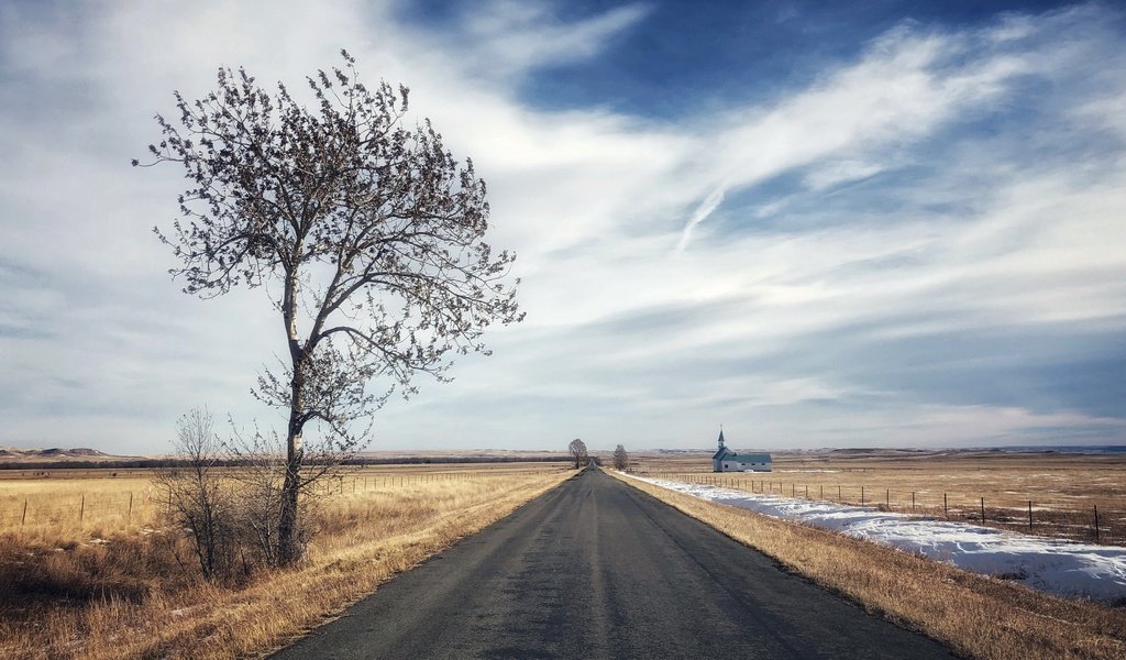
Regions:
[[[178, 567], [188, 547], [160, 529], [159, 510], [137, 506], [143, 479], [8, 481], [3, 498], [48, 516], [0, 526], [0, 657], [233, 658], [257, 655], [315, 626], [381, 582], [507, 516], [557, 485], [562, 470], [468, 470], [444, 475], [399, 469], [402, 482], [333, 485], [315, 515], [318, 536], [302, 565], [233, 587]], [[381, 476], [384, 476], [381, 474]], [[51, 481], [48, 485], [44, 482]], [[355, 488], [355, 491], [354, 491]], [[122, 515], [134, 492], [132, 519]], [[105, 501], [77, 523], [75, 492]], [[64, 506], [65, 505], [65, 506]], [[34, 521], [33, 521], [34, 520]], [[177, 558], [180, 558], [179, 560]]]

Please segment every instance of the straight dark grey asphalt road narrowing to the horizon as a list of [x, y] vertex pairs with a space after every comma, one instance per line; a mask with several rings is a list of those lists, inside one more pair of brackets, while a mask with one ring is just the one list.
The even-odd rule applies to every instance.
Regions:
[[951, 658], [590, 469], [274, 658]]

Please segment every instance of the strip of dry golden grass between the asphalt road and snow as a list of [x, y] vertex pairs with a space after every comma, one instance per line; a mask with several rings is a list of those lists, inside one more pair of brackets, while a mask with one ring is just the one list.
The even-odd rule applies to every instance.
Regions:
[[1126, 657], [1121, 609], [1056, 598], [875, 543], [619, 479], [959, 654], [991, 660]]

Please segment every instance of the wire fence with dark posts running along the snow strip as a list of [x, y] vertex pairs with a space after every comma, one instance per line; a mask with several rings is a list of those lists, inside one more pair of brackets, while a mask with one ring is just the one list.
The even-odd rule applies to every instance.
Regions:
[[1043, 536], [1093, 542], [1103, 545], [1126, 545], [1126, 506], [1100, 507], [1097, 502], [1065, 506], [1030, 498], [997, 498], [986, 500], [981, 494], [942, 492], [930, 489], [904, 490], [872, 488], [870, 485], [799, 484], [783, 480], [700, 473], [650, 473], [649, 476], [670, 479], [744, 490], [753, 493], [777, 494], [814, 501], [875, 507], [895, 511], [988, 527], [1019, 530]]

